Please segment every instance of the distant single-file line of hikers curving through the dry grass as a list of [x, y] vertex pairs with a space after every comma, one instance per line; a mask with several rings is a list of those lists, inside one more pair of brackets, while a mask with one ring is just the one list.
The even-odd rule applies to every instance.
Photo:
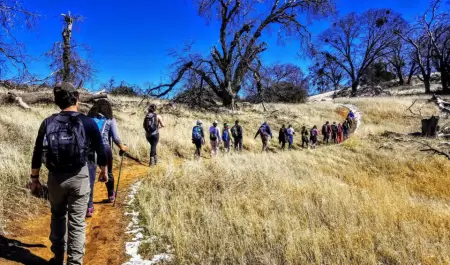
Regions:
[[[354, 113], [350, 111], [342, 124], [336, 124], [336, 122], [331, 124], [327, 121], [322, 126], [321, 131], [323, 143], [330, 144], [333, 142], [335, 144], [339, 144], [348, 139], [350, 130], [354, 123], [354, 118]], [[242, 151], [244, 130], [239, 124], [239, 120], [236, 120], [234, 126], [231, 128], [228, 123], [224, 123], [222, 131], [218, 127], [218, 124], [218, 121], [214, 121], [208, 131], [211, 145], [211, 157], [217, 155], [221, 143], [223, 143], [225, 153], [229, 153], [231, 151], [232, 144], [234, 144], [235, 151]], [[267, 122], [261, 124], [254, 138], [256, 139], [258, 136], [261, 137], [262, 151], [267, 151], [269, 138], [273, 138], [272, 130]], [[286, 149], [286, 143], [288, 143], [289, 150], [293, 148], [294, 136], [295, 130], [292, 125], [288, 125], [287, 128], [285, 125], [282, 125], [278, 134], [278, 140], [282, 150]], [[306, 126], [303, 126], [301, 130], [302, 148], [308, 148], [310, 143], [311, 148], [316, 148], [318, 144], [318, 137], [319, 131], [316, 125], [314, 125], [311, 130], [306, 129]], [[194, 155], [196, 158], [199, 158], [201, 156], [202, 146], [206, 144], [203, 122], [201, 120], [197, 120], [196, 125], [192, 129], [192, 143], [195, 144], [196, 147]]]

